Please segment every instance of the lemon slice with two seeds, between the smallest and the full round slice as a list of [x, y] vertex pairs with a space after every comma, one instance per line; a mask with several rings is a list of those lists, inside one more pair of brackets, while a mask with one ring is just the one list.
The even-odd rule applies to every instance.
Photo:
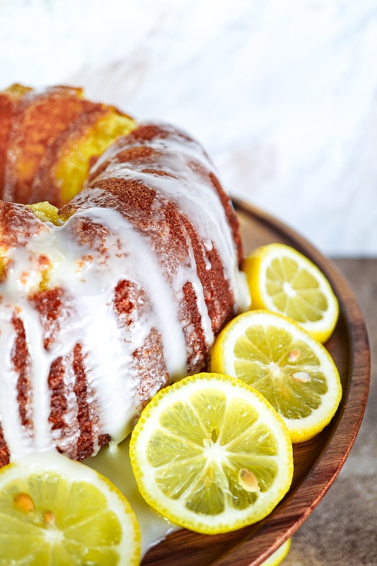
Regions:
[[337, 366], [323, 344], [293, 320], [248, 311], [221, 331], [211, 370], [253, 386], [284, 418], [293, 442], [318, 434], [342, 397]]

